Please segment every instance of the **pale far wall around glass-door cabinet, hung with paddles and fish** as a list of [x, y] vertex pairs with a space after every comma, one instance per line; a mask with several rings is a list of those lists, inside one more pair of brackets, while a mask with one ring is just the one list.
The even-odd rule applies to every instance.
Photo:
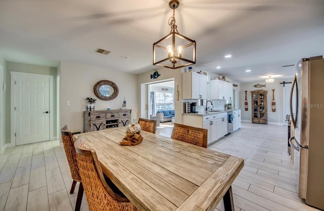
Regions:
[[[266, 85], [266, 87], [262, 88], [254, 88], [253, 86], [256, 84], [260, 85]], [[248, 82], [248, 83], [241, 83], [241, 88], [240, 88], [240, 100], [239, 104], [241, 107], [241, 119], [242, 120], [252, 120], [252, 106], [251, 106], [251, 91], [255, 90], [266, 90], [268, 91], [267, 95], [267, 109], [268, 109], [268, 123], [277, 123], [281, 124], [282, 123], [282, 85], [280, 85], [280, 81], [276, 80], [273, 83], [266, 83], [264, 80], [261, 81], [255, 81], [255, 82]], [[276, 103], [276, 111], [272, 112], [271, 111], [271, 103], [272, 103], [272, 89], [274, 89], [274, 100]], [[245, 102], [245, 91], [247, 92], [247, 100], [248, 100], [248, 105], [249, 105], [249, 110], [245, 111], [244, 109], [244, 102]]]

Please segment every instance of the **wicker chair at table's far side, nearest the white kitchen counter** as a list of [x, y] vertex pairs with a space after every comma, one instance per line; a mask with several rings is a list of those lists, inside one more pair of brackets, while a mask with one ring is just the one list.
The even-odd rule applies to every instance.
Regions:
[[207, 148], [207, 129], [174, 123], [171, 138]]

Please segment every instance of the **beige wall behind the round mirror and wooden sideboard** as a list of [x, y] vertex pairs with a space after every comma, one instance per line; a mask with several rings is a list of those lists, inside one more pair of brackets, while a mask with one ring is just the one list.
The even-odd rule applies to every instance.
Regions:
[[[126, 98], [127, 107], [137, 104], [137, 76], [117, 72], [106, 68], [61, 62], [60, 69], [60, 127], [68, 125], [72, 132], [84, 131], [84, 111], [87, 97], [97, 99], [95, 110], [119, 109]], [[110, 101], [98, 99], [93, 87], [99, 80], [111, 80], [116, 83], [119, 94]], [[66, 102], [70, 101], [70, 106]]]

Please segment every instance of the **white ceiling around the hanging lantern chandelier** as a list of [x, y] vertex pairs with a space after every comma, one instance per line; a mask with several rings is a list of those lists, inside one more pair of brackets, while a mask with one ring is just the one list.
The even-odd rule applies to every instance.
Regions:
[[[152, 45], [170, 32], [171, 16], [166, 0], [1, 0], [0, 53], [138, 74], [157, 69]], [[295, 67], [282, 66], [324, 54], [323, 0], [180, 0], [175, 18], [179, 33], [197, 42], [195, 68], [239, 82], [292, 77]]]

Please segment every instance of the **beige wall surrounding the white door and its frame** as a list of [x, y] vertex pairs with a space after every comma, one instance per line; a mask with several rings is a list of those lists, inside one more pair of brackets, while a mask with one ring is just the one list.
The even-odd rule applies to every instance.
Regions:
[[[31, 65], [31, 64], [22, 64], [16, 62], [7, 62], [6, 67], [6, 83], [7, 83], [7, 91], [6, 91], [6, 122], [10, 122], [11, 115], [10, 115], [10, 95], [11, 95], [11, 74], [10, 72], [25, 72], [25, 73], [35, 73], [35, 74], [45, 74], [45, 75], [53, 75], [56, 78], [57, 68], [56, 67], [46, 67], [40, 65]], [[53, 92], [54, 92], [54, 106], [53, 106], [53, 122], [54, 128], [53, 135], [54, 137], [57, 136], [56, 134], [56, 80], [53, 80]], [[10, 143], [10, 123], [6, 124], [6, 143]]]

